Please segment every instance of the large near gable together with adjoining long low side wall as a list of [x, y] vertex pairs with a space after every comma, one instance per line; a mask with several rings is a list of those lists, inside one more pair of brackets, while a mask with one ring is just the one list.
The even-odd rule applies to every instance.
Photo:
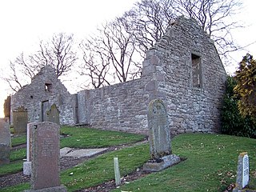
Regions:
[[147, 133], [148, 103], [160, 98], [172, 134], [218, 131], [225, 81], [214, 42], [197, 22], [181, 17], [147, 52], [142, 78], [78, 93], [78, 121]]

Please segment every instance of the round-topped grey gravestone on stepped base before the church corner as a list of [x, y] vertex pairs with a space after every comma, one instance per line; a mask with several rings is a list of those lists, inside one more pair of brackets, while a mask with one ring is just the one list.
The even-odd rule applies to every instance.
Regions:
[[180, 162], [177, 155], [171, 154], [168, 114], [162, 100], [155, 99], [150, 102], [147, 120], [151, 159], [143, 166], [143, 170], [160, 171]]

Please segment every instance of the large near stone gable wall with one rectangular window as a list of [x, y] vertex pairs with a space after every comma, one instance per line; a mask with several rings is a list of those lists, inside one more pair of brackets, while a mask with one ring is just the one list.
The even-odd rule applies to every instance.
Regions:
[[[201, 62], [198, 85], [193, 82], [192, 55]], [[178, 18], [148, 51], [143, 70], [158, 77], [152, 83], [156, 84], [156, 98], [166, 104], [172, 133], [219, 129], [226, 71], [214, 42], [194, 20]]]

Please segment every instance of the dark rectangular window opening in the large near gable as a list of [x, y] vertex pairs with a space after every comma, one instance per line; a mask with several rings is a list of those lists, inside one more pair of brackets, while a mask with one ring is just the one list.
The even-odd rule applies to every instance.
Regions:
[[196, 54], [191, 54], [192, 78], [194, 87], [202, 87], [201, 58]]

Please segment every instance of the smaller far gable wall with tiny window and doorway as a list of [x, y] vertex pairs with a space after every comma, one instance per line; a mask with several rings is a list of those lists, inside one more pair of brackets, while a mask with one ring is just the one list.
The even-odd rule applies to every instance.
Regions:
[[11, 97], [11, 123], [13, 111], [24, 107], [28, 111], [28, 122], [42, 121], [42, 102], [48, 101], [60, 111], [61, 124], [74, 124], [75, 97], [71, 95], [62, 82], [58, 80], [54, 69], [45, 66], [32, 78], [29, 85], [23, 86]]

